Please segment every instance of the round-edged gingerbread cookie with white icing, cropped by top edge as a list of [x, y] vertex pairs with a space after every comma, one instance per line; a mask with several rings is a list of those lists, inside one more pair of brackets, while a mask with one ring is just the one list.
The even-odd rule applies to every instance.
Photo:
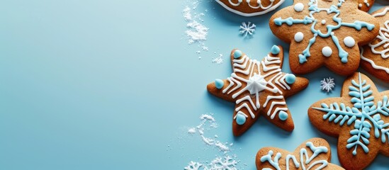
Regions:
[[241, 16], [258, 16], [273, 11], [285, 0], [216, 0], [228, 11]]

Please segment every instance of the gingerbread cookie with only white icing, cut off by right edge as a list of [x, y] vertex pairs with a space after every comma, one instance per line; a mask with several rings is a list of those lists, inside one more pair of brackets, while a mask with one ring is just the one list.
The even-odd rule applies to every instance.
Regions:
[[361, 67], [375, 77], [389, 82], [389, 6], [372, 13], [380, 22], [376, 39], [363, 46]]

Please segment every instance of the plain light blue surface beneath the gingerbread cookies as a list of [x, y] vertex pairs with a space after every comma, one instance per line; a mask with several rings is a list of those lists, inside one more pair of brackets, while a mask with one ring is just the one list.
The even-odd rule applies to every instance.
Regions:
[[[210, 96], [206, 84], [230, 76], [234, 48], [260, 60], [273, 45], [283, 45], [288, 56], [288, 45], [269, 30], [274, 12], [244, 18], [204, 0], [196, 11], [205, 13], [210, 28], [209, 51], [198, 55], [198, 45], [188, 45], [184, 35], [181, 11], [188, 3], [2, 1], [0, 169], [183, 169], [191, 160], [222, 155], [186, 133], [204, 113], [214, 113], [219, 127], [213, 134], [234, 143], [231, 153], [244, 169], [255, 169], [261, 147], [293, 150], [311, 137], [327, 139], [339, 164], [337, 139], [310, 125], [307, 109], [339, 96], [344, 77], [324, 68], [304, 76], [308, 89], [286, 101], [293, 132], [259, 118], [233, 137], [234, 104]], [[239, 35], [242, 21], [256, 24], [254, 38]], [[213, 64], [218, 54], [225, 62]], [[283, 70], [290, 72], [288, 57]], [[320, 91], [325, 77], [337, 83], [331, 94]], [[373, 81], [380, 91], [389, 89]], [[384, 169], [388, 160], [380, 155], [368, 169]]]

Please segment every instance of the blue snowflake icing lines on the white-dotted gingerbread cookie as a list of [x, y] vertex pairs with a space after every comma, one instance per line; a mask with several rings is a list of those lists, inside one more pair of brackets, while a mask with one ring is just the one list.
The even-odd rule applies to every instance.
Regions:
[[[286, 19], [282, 19], [280, 17], [280, 18], [274, 19], [274, 23], [277, 26], [281, 26], [283, 23], [286, 23], [286, 25], [288, 25], [288, 26], [292, 26], [293, 24], [299, 24], [299, 23], [303, 23], [304, 25], [308, 25], [308, 24], [312, 23], [311, 31], [314, 34], [314, 36], [313, 36], [313, 38], [311, 38], [309, 40], [308, 47], [306, 47], [305, 50], [303, 50], [303, 52], [300, 55], [298, 55], [300, 64], [307, 62], [307, 57], [310, 57], [310, 47], [316, 42], [317, 35], [320, 36], [321, 38], [328, 38], [329, 36], [331, 36], [332, 41], [337, 46], [337, 49], [339, 51], [339, 57], [341, 58], [341, 61], [343, 63], [346, 63], [346, 62], [348, 62], [347, 57], [349, 57], [349, 53], [346, 52], [345, 50], [343, 50], [342, 46], [339, 43], [338, 38], [334, 35], [333, 30], [337, 30], [337, 29], [341, 28], [342, 26], [354, 28], [356, 30], [361, 30], [363, 27], [367, 28], [367, 30], [373, 30], [373, 28], [375, 27], [373, 24], [366, 23], [363, 21], [354, 21], [354, 23], [343, 23], [342, 18], [338, 18], [338, 16], [340, 15], [339, 7], [341, 7], [343, 3], [344, 3], [344, 0], [339, 0], [339, 3], [337, 4], [337, 6], [332, 5], [329, 8], [319, 8], [319, 7], [317, 7], [317, 0], [310, 0], [310, 3], [308, 3], [308, 5], [309, 5], [308, 10], [310, 11], [310, 14], [309, 14], [309, 16], [305, 16], [304, 19], [295, 19], [293, 17], [289, 17]], [[328, 14], [329, 13], [336, 13], [332, 17], [332, 20], [335, 21], [337, 23], [337, 25], [335, 25], [335, 26], [327, 25], [326, 26], [327, 33], [322, 33], [320, 30], [315, 30], [317, 20], [313, 16], [313, 14], [320, 13], [320, 11], [327, 11]]]

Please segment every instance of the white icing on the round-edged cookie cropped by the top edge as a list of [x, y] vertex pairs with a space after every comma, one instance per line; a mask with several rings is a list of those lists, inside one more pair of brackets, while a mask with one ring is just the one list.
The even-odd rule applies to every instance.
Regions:
[[[230, 4], [232, 6], [239, 6], [240, 4], [242, 4], [242, 0], [239, 0], [237, 4], [234, 4], [230, 1]], [[248, 0], [250, 1], [250, 0]], [[270, 11], [273, 11], [274, 9], [276, 9], [278, 6], [280, 6], [281, 4], [283, 4], [285, 0], [280, 0], [278, 1], [277, 4], [274, 4], [274, 0], [271, 0], [271, 4], [269, 4], [269, 6], [263, 6], [261, 4], [261, 1], [256, 1], [258, 6], [252, 6], [251, 4], [249, 4], [250, 8], [261, 8], [262, 11], [259, 11], [259, 12], [256, 12], [256, 13], [244, 13], [244, 12], [241, 12], [241, 11], [237, 11], [233, 8], [230, 8], [230, 6], [227, 6], [226, 4], [222, 3], [221, 0], [216, 0], [216, 2], [218, 2], [218, 4], [220, 4], [221, 6], [223, 6], [224, 8], [226, 8], [228, 11], [231, 11], [233, 13], [237, 13], [238, 15], [241, 15], [241, 16], [258, 16], [258, 15], [262, 15], [262, 14], [265, 14], [265, 13], [269, 13]], [[246, 1], [247, 2], [247, 1]]]

